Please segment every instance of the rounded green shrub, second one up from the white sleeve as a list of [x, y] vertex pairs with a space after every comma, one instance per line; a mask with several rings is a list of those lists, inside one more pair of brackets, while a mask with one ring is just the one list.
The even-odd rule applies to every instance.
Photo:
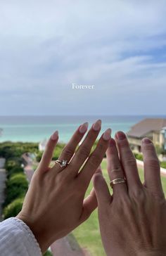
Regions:
[[28, 182], [25, 174], [13, 174], [6, 182], [6, 200], [4, 205], [8, 205], [18, 197], [25, 196], [27, 192]]

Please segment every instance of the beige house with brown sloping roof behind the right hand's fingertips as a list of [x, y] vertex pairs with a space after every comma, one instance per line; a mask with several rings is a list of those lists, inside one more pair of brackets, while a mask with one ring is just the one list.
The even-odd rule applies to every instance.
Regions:
[[141, 139], [148, 137], [155, 146], [166, 150], [166, 119], [146, 118], [135, 124], [127, 132], [129, 144], [133, 151], [141, 152]]

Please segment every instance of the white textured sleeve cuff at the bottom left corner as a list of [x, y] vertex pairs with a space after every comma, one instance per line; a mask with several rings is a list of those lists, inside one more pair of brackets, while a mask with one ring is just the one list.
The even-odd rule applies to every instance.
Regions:
[[12, 217], [0, 222], [0, 255], [41, 256], [41, 250], [29, 226]]

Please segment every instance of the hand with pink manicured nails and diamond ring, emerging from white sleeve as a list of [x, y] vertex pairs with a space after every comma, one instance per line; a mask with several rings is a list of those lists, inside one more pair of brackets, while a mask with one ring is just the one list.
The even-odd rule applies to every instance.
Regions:
[[30, 226], [41, 252], [84, 222], [97, 206], [94, 191], [86, 199], [84, 195], [108, 148], [110, 129], [101, 136], [96, 149], [90, 154], [101, 130], [101, 120], [98, 120], [75, 153], [78, 143], [87, 132], [87, 125], [82, 124], [63, 148], [58, 160], [70, 161], [67, 167], [60, 167], [57, 163], [49, 167], [58, 132], [51, 136], [32, 177], [23, 209], [17, 216]]

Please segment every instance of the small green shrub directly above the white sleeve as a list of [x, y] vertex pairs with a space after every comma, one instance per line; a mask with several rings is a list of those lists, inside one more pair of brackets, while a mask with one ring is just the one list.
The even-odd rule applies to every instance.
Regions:
[[16, 215], [18, 215], [23, 207], [23, 200], [23, 198], [15, 199], [12, 203], [6, 206], [3, 211], [4, 219], [8, 219], [10, 217], [15, 217]]

